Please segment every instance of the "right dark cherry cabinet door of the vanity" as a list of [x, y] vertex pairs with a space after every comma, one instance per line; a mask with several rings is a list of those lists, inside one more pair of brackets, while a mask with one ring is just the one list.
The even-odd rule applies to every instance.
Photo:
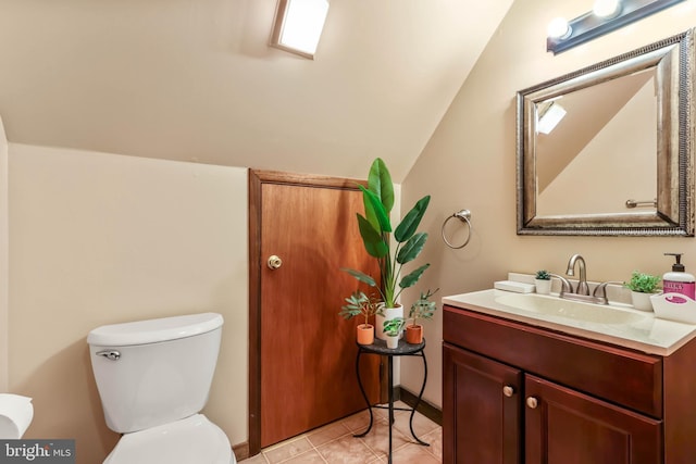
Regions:
[[660, 421], [529, 374], [524, 394], [526, 464], [662, 462]]

